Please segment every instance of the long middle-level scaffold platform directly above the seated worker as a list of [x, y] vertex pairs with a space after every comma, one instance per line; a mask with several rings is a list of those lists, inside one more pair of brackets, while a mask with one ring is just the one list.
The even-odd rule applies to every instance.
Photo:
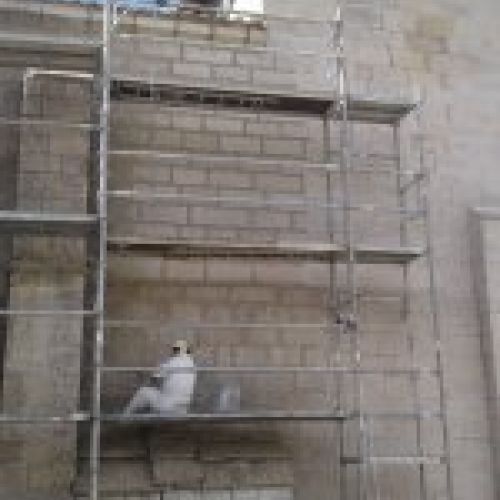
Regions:
[[[108, 250], [172, 259], [232, 258], [331, 262], [345, 261], [348, 258], [345, 247], [328, 243], [212, 243], [111, 237], [108, 239]], [[419, 247], [358, 246], [354, 250], [354, 258], [361, 264], [408, 264], [423, 253], [424, 250]]]

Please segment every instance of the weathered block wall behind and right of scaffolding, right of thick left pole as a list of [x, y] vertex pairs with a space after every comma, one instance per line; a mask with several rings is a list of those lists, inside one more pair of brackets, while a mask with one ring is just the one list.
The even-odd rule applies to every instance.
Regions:
[[[268, 0], [265, 7], [271, 13], [325, 17], [330, 14], [330, 3], [325, 5], [322, 0], [312, 0], [307, 4]], [[433, 203], [432, 239], [456, 500], [473, 497], [491, 500], [494, 495], [495, 473], [490, 460], [486, 391], [469, 265], [466, 212], [472, 204], [498, 203], [499, 197], [495, 170], [500, 83], [496, 70], [500, 56], [495, 26], [498, 9], [493, 0], [476, 4], [461, 0], [418, 3], [407, 0], [398, 5], [389, 0], [363, 1], [357, 2], [356, 6], [347, 5], [346, 9], [347, 26], [350, 20], [355, 21], [354, 27], [347, 28], [346, 37], [348, 53], [354, 58], [350, 66], [351, 88], [357, 92], [397, 97], [412, 95], [414, 87], [419, 87], [424, 99], [425, 161], [432, 174], [429, 190]], [[382, 29], [379, 31], [378, 28]], [[290, 36], [290, 33], [283, 34], [279, 26], [271, 32], [274, 40], [282, 44], [297, 43], [300, 39]], [[232, 33], [232, 42], [234, 36]], [[315, 47], [324, 39], [320, 33], [312, 37], [307, 46]], [[262, 40], [257, 43], [262, 43]], [[116, 71], [135, 75], [145, 73], [165, 79], [175, 77], [177, 82], [198, 84], [223, 82], [247, 86], [259, 83], [275, 89], [284, 84], [289, 90], [309, 90], [311, 82], [322, 88], [329, 85], [326, 78], [321, 80], [316, 78], [317, 75], [314, 78], [309, 78], [309, 74], [297, 75], [296, 66], [290, 61], [283, 62], [281, 73], [276, 71], [276, 60], [271, 62], [272, 71], [269, 68], [263, 70], [260, 66], [269, 61], [247, 53], [251, 51], [243, 54], [240, 49], [221, 49], [207, 53], [187, 44], [181, 52], [180, 49], [167, 50], [166, 42], [160, 45], [160, 54], [156, 52], [158, 47], [150, 47], [147, 57], [140, 46], [126, 48], [127, 55], [141, 62], [127, 66], [118, 59], [120, 66], [115, 68]], [[278, 76], [274, 76], [275, 73]], [[256, 81], [261, 77], [265, 81]], [[292, 80], [290, 85], [287, 85], [287, 79]], [[186, 166], [178, 160], [151, 162], [150, 159], [116, 157], [111, 162], [111, 181], [116, 187], [161, 188], [169, 193], [203, 196], [324, 195], [321, 174], [291, 174], [276, 163], [277, 157], [309, 161], [320, 158], [320, 124], [304, 122], [294, 129], [290, 123], [277, 122], [275, 117], [261, 116], [256, 120], [221, 113], [177, 111], [155, 109], [152, 115], [147, 105], [117, 105], [113, 109], [112, 143], [120, 148], [148, 147], [252, 156], [270, 154], [275, 163], [256, 171], [251, 164], [228, 166], [218, 162], [207, 165], [200, 161]], [[335, 132], [332, 135], [335, 139]], [[387, 130], [361, 131], [360, 149], [387, 152], [390, 135]], [[415, 138], [412, 140], [416, 141]], [[373, 177], [370, 182], [373, 182]], [[393, 206], [394, 191], [390, 199], [381, 197], [382, 191], [387, 192], [390, 182], [379, 180], [377, 189], [372, 190], [371, 184], [363, 181], [355, 189], [360, 196], [382, 199]], [[324, 223], [314, 212], [272, 210], [264, 214], [256, 209], [234, 207], [206, 210], [199, 206], [166, 208], [164, 202], [128, 206], [123, 201], [113, 203], [116, 205], [115, 208], [112, 205], [110, 228], [121, 235], [307, 240], [313, 233], [317, 234], [311, 231], [311, 219], [319, 220], [320, 227]], [[397, 221], [364, 219], [356, 222], [359, 223], [357, 234], [360, 238], [369, 237], [369, 241], [387, 243], [389, 237], [391, 242], [395, 241]], [[252, 232], [246, 229], [249, 224]], [[285, 227], [286, 231], [283, 230]], [[392, 234], [388, 229], [393, 231]], [[397, 234], [394, 237], [397, 240]], [[109, 316], [139, 320], [154, 317], [159, 324], [110, 329], [107, 361], [154, 364], [164, 346], [182, 334], [194, 342], [199, 362], [209, 364], [333, 363], [339, 358], [335, 358], [336, 344], [332, 345], [328, 332], [211, 331], [184, 326], [202, 322], [320, 323], [325, 317], [325, 276], [326, 266], [310, 263], [175, 262], [112, 257], [108, 285]], [[425, 365], [432, 359], [429, 350], [430, 311], [426, 299], [428, 285], [420, 264], [412, 267], [410, 279], [412, 314], [402, 322], [400, 273], [394, 269], [360, 269], [363, 290], [361, 325], [366, 333], [363, 354], [371, 366], [405, 367], [412, 361]], [[386, 296], [395, 299], [389, 300]], [[416, 344], [413, 354], [409, 347], [412, 337]], [[139, 345], [141, 349], [138, 349]], [[394, 411], [411, 408], [412, 402], [408, 398], [411, 389], [407, 380], [385, 378], [367, 382], [370, 384], [367, 404], [372, 408]], [[131, 391], [132, 384], [129, 380], [109, 381], [105, 404], [116, 408]], [[422, 379], [420, 386], [426, 407], [435, 409], [436, 381]], [[263, 404], [279, 401], [280, 406], [293, 402], [295, 406], [300, 403], [304, 407], [309, 404], [317, 407], [316, 403], [325, 403], [325, 392], [330, 395], [328, 385], [308, 378], [294, 380], [291, 394], [287, 393], [288, 381], [274, 380], [272, 384], [264, 381], [257, 387]], [[299, 390], [302, 388], [304, 390]], [[441, 444], [437, 438], [440, 429], [436, 425], [431, 423], [425, 430], [427, 452], [440, 452]], [[416, 454], [415, 425], [405, 426], [388, 422], [376, 428], [375, 451]], [[331, 450], [328, 445], [335, 443], [336, 437], [331, 427], [295, 426], [290, 430], [284, 428], [283, 434], [285, 439], [291, 436], [289, 441], [295, 450], [296, 498], [324, 498], [325, 491], [331, 492], [332, 488], [338, 487], [336, 466], [332, 463], [325, 467], [328, 456], [335, 462], [335, 457], [331, 457], [328, 451]], [[426, 480], [433, 483], [430, 486], [433, 497], [440, 498], [443, 470], [436, 469], [437, 474], [430, 469], [426, 472]], [[380, 466], [375, 472], [383, 498], [410, 497], [418, 488], [415, 467]], [[350, 478], [351, 493], [355, 484], [356, 477]]]

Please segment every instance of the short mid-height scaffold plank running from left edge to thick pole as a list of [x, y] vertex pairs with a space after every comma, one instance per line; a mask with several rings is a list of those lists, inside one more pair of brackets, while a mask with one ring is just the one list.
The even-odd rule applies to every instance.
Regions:
[[96, 229], [97, 216], [0, 210], [0, 234], [81, 236]]

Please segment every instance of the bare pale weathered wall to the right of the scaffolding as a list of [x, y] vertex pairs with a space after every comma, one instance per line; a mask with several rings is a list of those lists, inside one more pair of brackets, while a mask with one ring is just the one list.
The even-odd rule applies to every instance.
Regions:
[[[268, 2], [273, 12], [323, 15], [324, 2]], [[359, 8], [357, 8], [359, 6]], [[368, 83], [403, 70], [423, 90], [430, 161], [433, 240], [449, 404], [456, 498], [492, 498], [490, 437], [470, 272], [467, 208], [497, 205], [498, 3], [481, 1], [347, 2], [347, 18], [381, 25], [350, 52], [376, 62]], [[371, 14], [370, 14], [371, 13]], [[380, 41], [380, 43], [377, 43]], [[347, 39], [349, 44], [349, 37]], [[361, 77], [362, 75], [360, 75]], [[378, 83], [375, 83], [378, 85]], [[464, 366], [467, 369], [464, 370]], [[498, 471], [493, 473], [498, 477]]]

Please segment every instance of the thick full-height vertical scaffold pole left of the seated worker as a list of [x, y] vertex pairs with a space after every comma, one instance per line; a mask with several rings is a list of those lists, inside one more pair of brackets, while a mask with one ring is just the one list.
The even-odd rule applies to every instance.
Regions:
[[99, 500], [99, 465], [101, 441], [101, 376], [104, 347], [104, 299], [107, 260], [107, 177], [110, 112], [110, 30], [113, 0], [105, 0], [102, 8], [101, 106], [99, 113], [99, 262], [96, 276], [96, 328], [93, 356], [93, 394], [90, 443], [90, 499]]

